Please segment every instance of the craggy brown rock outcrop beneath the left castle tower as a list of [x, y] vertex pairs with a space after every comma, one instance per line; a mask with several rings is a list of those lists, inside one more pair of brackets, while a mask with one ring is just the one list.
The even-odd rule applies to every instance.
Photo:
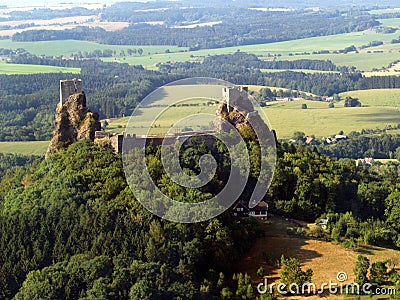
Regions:
[[69, 96], [62, 106], [57, 106], [55, 129], [46, 158], [78, 140], [93, 141], [95, 132], [100, 129], [99, 115], [86, 107], [85, 94], [82, 92]]

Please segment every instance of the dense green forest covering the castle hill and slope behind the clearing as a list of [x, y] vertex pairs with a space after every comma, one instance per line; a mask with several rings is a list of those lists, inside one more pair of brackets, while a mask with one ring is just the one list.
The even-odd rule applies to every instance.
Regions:
[[[183, 168], [197, 172], [205, 153], [223, 163], [223, 148], [214, 147], [187, 143]], [[218, 191], [187, 193], [168, 184], [156, 147], [147, 149], [147, 159], [153, 179], [170, 197], [199, 201]], [[228, 174], [219, 170], [212, 185], [225, 182]], [[291, 218], [314, 221], [328, 214], [328, 236], [337, 241], [400, 247], [398, 171], [390, 165], [359, 169], [353, 160], [283, 144], [266, 200], [274, 213]], [[255, 241], [257, 220], [226, 212], [197, 224], [163, 221], [135, 200], [111, 148], [83, 140], [47, 161], [17, 168], [3, 176], [0, 201], [2, 298], [255, 297], [249, 279], [229, 278]], [[362, 230], [354, 231], [354, 224]]]

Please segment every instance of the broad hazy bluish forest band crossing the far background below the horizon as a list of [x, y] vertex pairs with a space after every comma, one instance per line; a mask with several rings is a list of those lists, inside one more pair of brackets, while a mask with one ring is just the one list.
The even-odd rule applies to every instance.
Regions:
[[[118, 17], [112, 17], [107, 15], [106, 10], [102, 16], [108, 21], [131, 22], [129, 28], [114, 32], [88, 27], [66, 30], [27, 30], [14, 34], [12, 40], [32, 42], [75, 39], [112, 45], [176, 45], [197, 50], [363, 31], [380, 24], [369, 14], [362, 12], [345, 15], [307, 10], [274, 13], [240, 8], [229, 10], [226, 8], [186, 8], [145, 13], [146, 16], [154, 14], [158, 16], [151, 17], [149, 19], [152, 20], [151, 22], [161, 20], [166, 22], [166, 25], [137, 24], [148, 21], [140, 17], [143, 13], [132, 13], [132, 9], [122, 10], [118, 14]], [[168, 26], [168, 23], [176, 25], [199, 19], [206, 22], [222, 21], [222, 23], [195, 28]]]

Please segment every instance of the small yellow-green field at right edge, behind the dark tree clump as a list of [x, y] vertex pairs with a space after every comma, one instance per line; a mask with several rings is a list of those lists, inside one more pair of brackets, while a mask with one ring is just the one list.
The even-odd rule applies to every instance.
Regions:
[[392, 106], [400, 108], [400, 89], [360, 90], [340, 94], [342, 98], [348, 96], [360, 99], [363, 106]]

